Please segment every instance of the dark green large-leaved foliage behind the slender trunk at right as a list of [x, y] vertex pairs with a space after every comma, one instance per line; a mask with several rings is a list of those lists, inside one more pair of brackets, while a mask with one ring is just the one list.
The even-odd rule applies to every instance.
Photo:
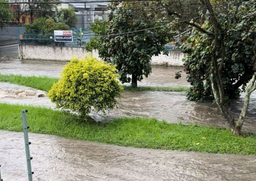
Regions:
[[[242, 85], [245, 87], [254, 72], [253, 67], [256, 59], [253, 46], [256, 43], [256, 18], [252, 14], [256, 11], [255, 2], [253, 0], [250, 1], [252, 4], [241, 5], [237, 9], [230, 8], [226, 12], [222, 11], [223, 14], [219, 14], [218, 17], [219, 26], [223, 29], [225, 27], [225, 32], [220, 35], [225, 47], [225, 61], [221, 76], [227, 103], [230, 98], [240, 96], [239, 87]], [[221, 10], [222, 7], [215, 7], [215, 11]], [[233, 23], [231, 23], [230, 14], [235, 14]], [[206, 18], [200, 27], [207, 32], [214, 32], [210, 18]], [[192, 101], [213, 99], [210, 71], [212, 49], [215, 43], [214, 37], [209, 36], [209, 34], [202, 34], [201, 30], [193, 28], [193, 35], [183, 38], [187, 40], [183, 45], [184, 53], [187, 54], [183, 60], [185, 72], [188, 74], [188, 81], [192, 85], [187, 97]], [[218, 47], [217, 51], [219, 66], [222, 60], [222, 48]]]

